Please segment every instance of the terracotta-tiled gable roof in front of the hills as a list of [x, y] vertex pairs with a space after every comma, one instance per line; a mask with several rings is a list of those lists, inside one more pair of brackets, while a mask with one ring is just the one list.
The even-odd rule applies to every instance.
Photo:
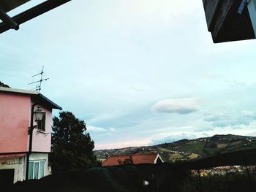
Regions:
[[160, 158], [159, 154], [138, 154], [138, 155], [118, 155], [110, 156], [103, 163], [102, 166], [118, 166], [119, 162], [124, 162], [126, 159], [132, 157], [133, 164], [157, 164], [157, 159]]

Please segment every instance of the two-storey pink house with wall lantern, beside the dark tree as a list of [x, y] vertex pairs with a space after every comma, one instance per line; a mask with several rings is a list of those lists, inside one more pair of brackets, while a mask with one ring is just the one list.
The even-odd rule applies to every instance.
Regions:
[[[34, 121], [34, 111], [42, 109], [42, 121]], [[62, 110], [37, 91], [0, 87], [0, 180], [16, 183], [19, 180], [39, 179], [50, 174], [52, 110]], [[33, 118], [33, 119], [32, 119]], [[29, 127], [32, 131], [29, 151]], [[29, 157], [29, 161], [27, 161]], [[29, 164], [29, 166], [27, 166]]]

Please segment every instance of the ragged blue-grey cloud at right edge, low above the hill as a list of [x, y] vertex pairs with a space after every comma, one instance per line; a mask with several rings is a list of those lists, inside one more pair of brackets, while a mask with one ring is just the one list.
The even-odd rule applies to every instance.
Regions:
[[216, 127], [232, 126], [248, 126], [252, 121], [256, 120], [256, 112], [242, 110], [240, 112], [209, 112], [204, 119], [212, 123]]

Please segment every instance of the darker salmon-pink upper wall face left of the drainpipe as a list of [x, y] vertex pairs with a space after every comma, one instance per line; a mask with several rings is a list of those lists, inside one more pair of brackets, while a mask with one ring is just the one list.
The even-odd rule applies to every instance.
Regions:
[[30, 110], [29, 95], [0, 93], [0, 153], [28, 149]]

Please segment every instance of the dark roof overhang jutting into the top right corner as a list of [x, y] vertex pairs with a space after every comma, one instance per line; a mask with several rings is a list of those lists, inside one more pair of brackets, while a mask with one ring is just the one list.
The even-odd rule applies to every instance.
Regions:
[[215, 43], [255, 39], [248, 7], [238, 13], [241, 3], [242, 0], [203, 0], [208, 31]]

